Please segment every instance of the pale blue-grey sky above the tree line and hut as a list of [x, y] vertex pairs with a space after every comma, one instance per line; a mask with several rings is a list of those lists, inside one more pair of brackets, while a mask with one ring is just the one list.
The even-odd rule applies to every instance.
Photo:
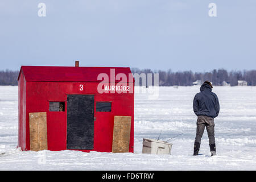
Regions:
[[[39, 17], [38, 4], [46, 5]], [[210, 17], [209, 3], [217, 17]], [[256, 69], [256, 1], [0, 1], [0, 70], [21, 65]]]

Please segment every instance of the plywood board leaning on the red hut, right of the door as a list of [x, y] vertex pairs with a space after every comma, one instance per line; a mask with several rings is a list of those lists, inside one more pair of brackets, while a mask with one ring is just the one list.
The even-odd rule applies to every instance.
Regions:
[[131, 117], [114, 117], [112, 152], [129, 152]]

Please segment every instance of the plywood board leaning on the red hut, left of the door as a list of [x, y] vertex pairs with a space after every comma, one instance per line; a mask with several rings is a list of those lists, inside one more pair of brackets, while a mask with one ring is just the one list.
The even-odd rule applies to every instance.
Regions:
[[47, 150], [46, 112], [30, 113], [30, 150]]

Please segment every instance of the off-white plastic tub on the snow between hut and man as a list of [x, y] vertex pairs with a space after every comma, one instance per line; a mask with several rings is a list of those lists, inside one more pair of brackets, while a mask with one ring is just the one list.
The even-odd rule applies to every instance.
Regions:
[[154, 139], [143, 138], [142, 154], [169, 154], [171, 155], [172, 143]]

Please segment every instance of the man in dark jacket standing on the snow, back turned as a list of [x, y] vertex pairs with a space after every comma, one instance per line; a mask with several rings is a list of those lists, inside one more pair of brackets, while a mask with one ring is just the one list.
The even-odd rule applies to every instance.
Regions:
[[216, 155], [214, 118], [218, 116], [220, 104], [218, 103], [217, 95], [212, 92], [212, 88], [212, 84], [209, 81], [205, 81], [200, 87], [201, 92], [196, 94], [193, 101], [193, 110], [198, 117], [193, 155], [198, 155], [205, 126], [207, 127], [211, 156]]

